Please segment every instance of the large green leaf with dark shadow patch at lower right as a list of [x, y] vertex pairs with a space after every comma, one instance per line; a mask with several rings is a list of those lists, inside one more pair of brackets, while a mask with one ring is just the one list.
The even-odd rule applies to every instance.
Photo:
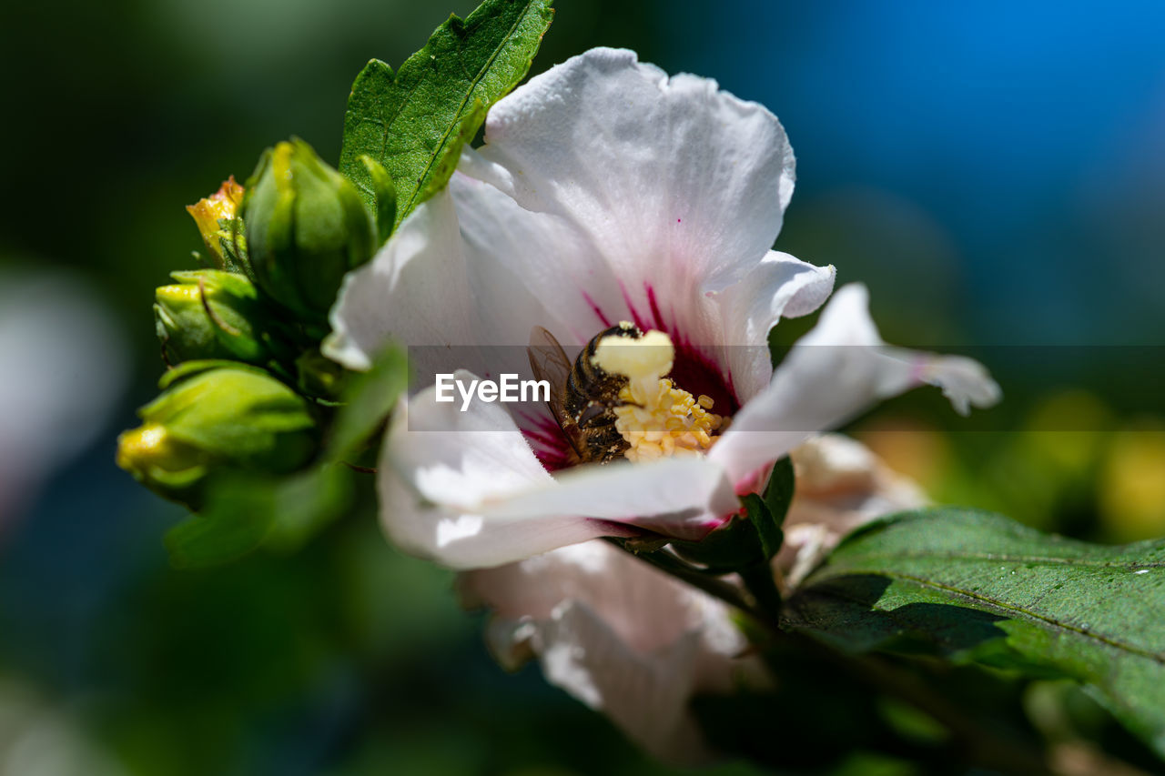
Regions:
[[1102, 546], [990, 513], [904, 513], [850, 534], [784, 626], [847, 651], [1074, 678], [1165, 755], [1165, 539]]

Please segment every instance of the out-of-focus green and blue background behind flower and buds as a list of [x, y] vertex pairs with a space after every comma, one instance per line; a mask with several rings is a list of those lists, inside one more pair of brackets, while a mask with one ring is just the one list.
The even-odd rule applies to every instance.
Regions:
[[[1004, 388], [968, 421], [919, 391], [852, 433], [938, 501], [1165, 534], [1165, 6], [557, 5], [536, 71], [628, 47], [767, 105], [798, 156], [777, 247], [866, 282], [888, 340], [969, 347]], [[0, 9], [0, 775], [669, 773], [499, 669], [451, 574], [369, 510], [176, 572], [183, 512], [113, 464], [162, 371], [153, 289], [200, 247], [183, 206], [292, 134], [334, 163], [365, 62], [473, 6]]]

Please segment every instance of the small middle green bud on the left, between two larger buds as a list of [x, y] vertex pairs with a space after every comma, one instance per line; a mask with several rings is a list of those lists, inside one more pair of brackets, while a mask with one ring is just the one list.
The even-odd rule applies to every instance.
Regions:
[[168, 364], [233, 359], [262, 364], [269, 348], [259, 326], [259, 292], [242, 275], [202, 269], [154, 292], [154, 324]]

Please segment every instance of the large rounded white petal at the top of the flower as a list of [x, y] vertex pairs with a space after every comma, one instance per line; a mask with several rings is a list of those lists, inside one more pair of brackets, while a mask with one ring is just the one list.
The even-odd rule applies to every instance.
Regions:
[[686, 304], [705, 281], [742, 277], [772, 245], [793, 185], [792, 150], [764, 107], [614, 49], [499, 101], [480, 157], [461, 169], [572, 221], [643, 313], [647, 287]]

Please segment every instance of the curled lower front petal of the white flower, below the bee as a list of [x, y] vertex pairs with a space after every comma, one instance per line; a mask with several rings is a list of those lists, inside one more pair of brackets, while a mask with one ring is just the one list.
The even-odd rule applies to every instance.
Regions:
[[409, 552], [490, 566], [638, 534], [620, 523], [700, 538], [739, 506], [723, 473], [699, 457], [579, 467], [555, 480], [502, 405], [461, 411], [436, 395], [430, 388], [397, 408], [381, 456], [381, 520]]

